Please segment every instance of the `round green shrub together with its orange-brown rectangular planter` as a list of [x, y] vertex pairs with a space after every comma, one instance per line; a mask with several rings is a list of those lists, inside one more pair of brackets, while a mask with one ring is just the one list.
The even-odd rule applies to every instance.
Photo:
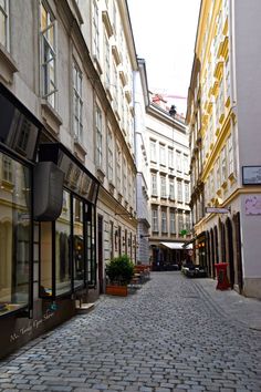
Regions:
[[134, 264], [127, 255], [114, 257], [106, 264], [106, 293], [113, 296], [127, 296], [127, 285], [134, 276]]

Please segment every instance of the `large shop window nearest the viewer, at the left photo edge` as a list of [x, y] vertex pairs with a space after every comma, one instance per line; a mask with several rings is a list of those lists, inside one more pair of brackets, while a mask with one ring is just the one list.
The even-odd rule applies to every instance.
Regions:
[[[15, 173], [13, 192], [2, 182], [0, 189], [0, 316], [29, 305], [31, 269], [31, 176], [29, 167], [0, 153], [8, 176]], [[6, 178], [7, 179], [7, 178]], [[10, 177], [9, 177], [10, 179]]]

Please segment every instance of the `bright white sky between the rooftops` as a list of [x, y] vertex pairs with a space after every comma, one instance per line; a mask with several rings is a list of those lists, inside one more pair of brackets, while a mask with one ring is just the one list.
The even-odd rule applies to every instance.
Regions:
[[137, 56], [145, 59], [148, 87], [186, 115], [200, 0], [128, 0]]

